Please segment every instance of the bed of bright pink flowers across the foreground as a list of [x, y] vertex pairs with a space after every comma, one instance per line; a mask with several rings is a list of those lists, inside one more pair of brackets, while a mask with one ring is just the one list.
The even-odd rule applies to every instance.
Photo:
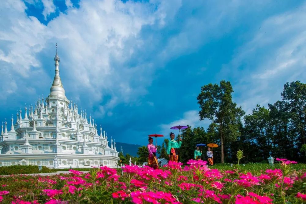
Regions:
[[210, 169], [206, 161], [169, 162], [166, 169], [101, 167], [88, 174], [0, 177], [3, 203], [302, 203], [306, 172], [293, 161], [279, 169]]

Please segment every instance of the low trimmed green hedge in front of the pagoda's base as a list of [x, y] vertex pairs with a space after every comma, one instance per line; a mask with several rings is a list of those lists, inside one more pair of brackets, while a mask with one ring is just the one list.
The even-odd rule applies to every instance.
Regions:
[[56, 169], [49, 169], [45, 166], [42, 166], [41, 171], [38, 170], [38, 166], [34, 165], [14, 165], [14, 166], [1, 166], [0, 175], [11, 175], [11, 174], [28, 174], [28, 173], [49, 173], [57, 172]]

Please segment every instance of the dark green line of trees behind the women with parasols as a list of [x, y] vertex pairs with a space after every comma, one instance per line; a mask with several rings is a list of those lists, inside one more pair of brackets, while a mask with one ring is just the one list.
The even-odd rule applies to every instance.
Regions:
[[[267, 107], [257, 105], [251, 114], [245, 114], [232, 99], [229, 81], [201, 87], [197, 97], [199, 119], [211, 124], [189, 127], [182, 131], [181, 162], [193, 157], [197, 143], [217, 143], [215, 162], [234, 162], [237, 150], [243, 150], [242, 162], [267, 162], [275, 158], [306, 161], [306, 84], [300, 81], [285, 83], [282, 100]], [[168, 139], [158, 146], [159, 158], [167, 158]], [[204, 155], [206, 148], [203, 148]], [[138, 149], [138, 162], [147, 161], [146, 147]], [[203, 155], [203, 159], [205, 156]]]

